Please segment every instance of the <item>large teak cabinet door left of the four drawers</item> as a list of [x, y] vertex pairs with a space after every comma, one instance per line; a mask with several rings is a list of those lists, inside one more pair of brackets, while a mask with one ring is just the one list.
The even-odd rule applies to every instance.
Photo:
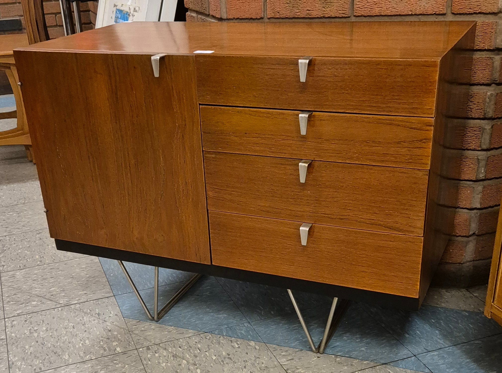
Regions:
[[193, 56], [15, 57], [51, 237], [210, 263]]

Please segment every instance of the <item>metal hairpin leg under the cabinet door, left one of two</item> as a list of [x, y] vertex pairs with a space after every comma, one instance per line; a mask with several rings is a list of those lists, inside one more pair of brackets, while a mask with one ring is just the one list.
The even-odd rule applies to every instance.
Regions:
[[159, 267], [154, 267], [154, 275], [155, 275], [154, 276], [154, 315], [152, 316], [152, 314], [150, 313], [150, 310], [148, 309], [147, 305], [145, 304], [145, 301], [141, 297], [141, 294], [138, 291], [138, 288], [134, 284], [133, 279], [129, 275], [129, 272], [127, 271], [126, 267], [124, 266], [124, 264], [122, 263], [121, 260], [117, 260], [117, 262], [118, 262], [118, 265], [120, 266], [120, 268], [122, 268], [124, 275], [126, 275], [126, 278], [129, 281], [129, 284], [131, 285], [131, 287], [133, 288], [133, 291], [136, 294], [136, 297], [138, 298], [138, 300], [140, 301], [141, 306], [143, 307], [143, 310], [147, 314], [147, 317], [152, 321], [159, 321], [162, 317], [164, 317], [164, 315], [166, 313], [168, 313], [169, 310], [171, 308], [173, 308], [173, 306], [176, 303], [178, 303], [178, 301], [181, 299], [183, 294], [185, 294], [188, 291], [188, 289], [190, 289], [193, 286], [193, 284], [195, 284], [197, 282], [197, 280], [202, 277], [201, 274], [196, 274], [195, 276], [193, 276], [190, 280], [188, 280], [188, 282], [185, 285], [183, 285], [183, 287], [180, 290], [178, 290], [178, 292], [176, 294], [174, 294], [174, 296], [171, 299], [169, 299], [169, 301], [166, 303], [166, 305], [164, 307], [162, 307], [162, 309], [159, 311]]

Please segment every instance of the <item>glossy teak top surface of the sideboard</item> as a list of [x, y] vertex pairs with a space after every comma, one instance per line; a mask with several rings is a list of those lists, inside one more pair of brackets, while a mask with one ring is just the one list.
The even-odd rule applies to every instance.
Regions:
[[132, 22], [21, 50], [138, 54], [440, 59], [472, 21], [417, 22]]

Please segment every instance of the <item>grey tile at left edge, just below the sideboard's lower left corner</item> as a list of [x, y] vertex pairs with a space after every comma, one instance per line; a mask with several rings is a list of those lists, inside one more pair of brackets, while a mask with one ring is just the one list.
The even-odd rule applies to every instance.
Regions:
[[5, 317], [113, 295], [96, 257], [2, 274]]

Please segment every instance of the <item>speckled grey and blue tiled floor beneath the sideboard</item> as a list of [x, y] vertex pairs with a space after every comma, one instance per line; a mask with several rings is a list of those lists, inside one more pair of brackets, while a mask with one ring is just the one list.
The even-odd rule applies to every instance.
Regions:
[[[152, 268], [126, 266], [150, 301]], [[160, 277], [166, 299], [190, 274]], [[160, 323], [147, 321], [115, 262], [55, 250], [20, 146], [0, 147], [0, 294], [0, 373], [502, 372], [485, 287], [433, 288], [419, 312], [352, 303], [324, 355], [309, 351], [273, 287], [203, 277]], [[296, 296], [319, 339], [330, 299]]]

